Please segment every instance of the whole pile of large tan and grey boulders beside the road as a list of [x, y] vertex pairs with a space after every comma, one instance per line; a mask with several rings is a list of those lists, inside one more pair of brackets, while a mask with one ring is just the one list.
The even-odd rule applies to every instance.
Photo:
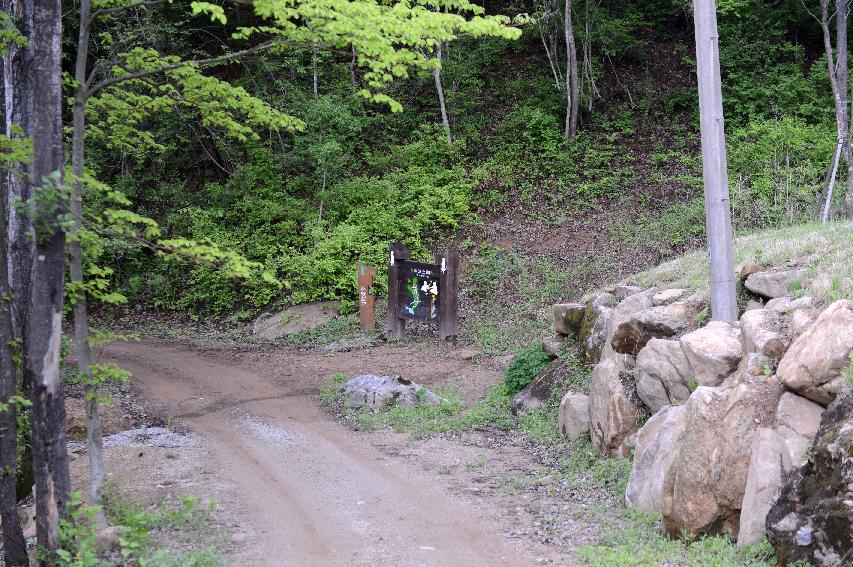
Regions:
[[[789, 297], [800, 270], [744, 277], [768, 301], [736, 324], [699, 326], [707, 299], [682, 289], [619, 286], [555, 306], [552, 341], [575, 336], [595, 364], [588, 396], [563, 398], [558, 429], [576, 439], [588, 428], [602, 455], [633, 448], [626, 504], [662, 514], [670, 534], [725, 532], [742, 545], [766, 522], [786, 561], [849, 561], [853, 408], [834, 401], [851, 364], [853, 301], [821, 310]], [[646, 408], [654, 415], [639, 427]]]

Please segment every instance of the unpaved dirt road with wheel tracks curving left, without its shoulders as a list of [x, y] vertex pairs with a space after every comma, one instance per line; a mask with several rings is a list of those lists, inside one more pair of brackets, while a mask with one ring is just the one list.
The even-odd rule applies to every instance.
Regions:
[[256, 541], [241, 565], [532, 562], [476, 506], [383, 457], [309, 396], [181, 348], [121, 343], [106, 355], [212, 449], [211, 469], [251, 511], [241, 522]]

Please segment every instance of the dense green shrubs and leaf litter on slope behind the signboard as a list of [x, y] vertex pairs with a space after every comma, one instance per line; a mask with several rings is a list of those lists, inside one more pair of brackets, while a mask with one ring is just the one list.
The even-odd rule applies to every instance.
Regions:
[[[792, 0], [734, 4], [721, 4], [720, 28], [735, 226], [800, 223], [816, 208], [835, 144], [819, 30]], [[169, 235], [237, 250], [260, 263], [257, 275], [237, 283], [103, 235], [88, 259], [115, 270], [135, 309], [240, 322], [320, 299], [352, 309], [356, 260], [379, 269], [381, 295], [389, 243], [406, 243], [420, 259], [456, 243], [463, 291], [482, 314], [469, 320], [471, 336], [492, 352], [517, 349], [529, 317], [518, 338], [496, 332], [506, 311], [496, 293], [532, 312], [566, 290], [696, 247], [703, 236], [688, 15], [669, 0], [619, 1], [578, 18], [579, 38], [593, 33], [587, 80], [595, 88], [587, 84], [581, 132], [571, 142], [562, 137], [564, 102], [533, 25], [518, 41], [462, 38], [448, 46], [442, 76], [451, 143], [436, 124], [430, 76], [392, 85], [404, 104], [392, 114], [357, 96], [347, 62], [330, 54], [317, 61], [316, 97], [308, 50], [247, 58], [223, 74], [300, 117], [304, 133], [235, 141], [191, 117], [155, 115], [147, 124], [155, 146], [117, 153], [95, 142], [92, 163]], [[193, 47], [181, 22], [163, 25]], [[105, 206], [96, 195], [88, 203]], [[502, 244], [519, 224], [538, 232]]]

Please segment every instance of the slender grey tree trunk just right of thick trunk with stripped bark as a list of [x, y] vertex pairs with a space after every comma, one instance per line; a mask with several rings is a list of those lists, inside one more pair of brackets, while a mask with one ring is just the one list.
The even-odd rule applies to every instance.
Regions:
[[91, 0], [80, 2], [80, 33], [77, 40], [77, 58], [74, 66], [74, 91], [72, 109], [73, 132], [71, 139], [71, 168], [74, 180], [71, 189], [71, 216], [73, 225], [69, 250], [71, 256], [71, 283], [78, 288], [74, 294], [74, 348], [77, 366], [83, 376], [83, 393], [86, 403], [86, 446], [89, 453], [89, 503], [98, 506], [95, 522], [106, 526], [102, 508], [101, 487], [104, 484], [104, 441], [101, 435], [101, 417], [98, 411], [98, 391], [91, 382], [91, 353], [89, 351], [89, 317], [86, 309], [86, 294], [82, 289], [83, 250], [80, 229], [83, 223], [83, 173], [86, 158], [86, 103], [89, 93], [86, 86], [86, 65], [89, 55], [89, 18]]

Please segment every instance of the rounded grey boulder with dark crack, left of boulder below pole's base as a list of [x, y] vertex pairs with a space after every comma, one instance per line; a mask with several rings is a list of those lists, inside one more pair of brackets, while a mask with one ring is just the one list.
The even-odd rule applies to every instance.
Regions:
[[690, 397], [690, 363], [678, 341], [652, 339], [637, 356], [637, 394], [653, 412]]

